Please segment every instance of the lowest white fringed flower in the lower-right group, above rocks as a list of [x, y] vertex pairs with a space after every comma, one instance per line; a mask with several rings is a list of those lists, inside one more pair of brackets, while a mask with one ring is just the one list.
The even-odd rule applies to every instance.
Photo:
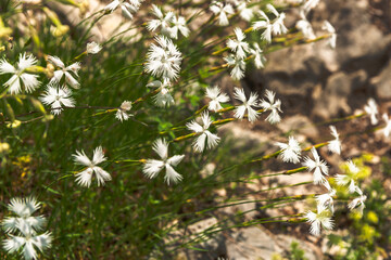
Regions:
[[324, 207], [318, 207], [317, 213], [308, 210], [305, 216], [307, 222], [311, 223], [310, 233], [318, 236], [320, 235], [320, 229], [332, 230], [333, 221], [331, 220], [331, 212]]

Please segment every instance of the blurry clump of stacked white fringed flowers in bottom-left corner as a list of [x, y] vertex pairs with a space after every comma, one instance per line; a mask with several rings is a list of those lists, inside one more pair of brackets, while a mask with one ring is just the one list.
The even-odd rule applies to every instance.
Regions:
[[5, 251], [13, 253], [20, 251], [24, 259], [37, 259], [37, 251], [43, 251], [51, 246], [51, 234], [49, 232], [38, 234], [42, 231], [46, 219], [43, 216], [34, 217], [33, 213], [40, 208], [36, 198], [13, 198], [9, 210], [16, 217], [8, 217], [2, 221], [2, 226], [8, 233], [3, 240]]

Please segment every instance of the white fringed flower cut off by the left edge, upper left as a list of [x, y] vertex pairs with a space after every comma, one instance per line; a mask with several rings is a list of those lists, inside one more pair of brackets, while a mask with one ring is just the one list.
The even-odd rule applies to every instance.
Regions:
[[13, 76], [4, 83], [5, 88], [9, 88], [11, 94], [18, 94], [22, 91], [21, 81], [23, 82], [26, 92], [33, 92], [40, 83], [38, 76], [25, 73], [25, 69], [33, 67], [37, 63], [37, 60], [31, 54], [20, 54], [17, 68], [12, 66], [4, 58], [0, 60], [0, 75], [13, 74]]

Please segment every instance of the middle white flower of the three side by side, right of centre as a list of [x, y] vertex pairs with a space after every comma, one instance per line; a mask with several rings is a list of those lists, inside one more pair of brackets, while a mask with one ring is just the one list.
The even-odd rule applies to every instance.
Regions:
[[253, 122], [258, 118], [260, 113], [252, 108], [252, 106], [258, 106], [257, 104], [257, 94], [251, 92], [249, 100], [245, 99], [244, 90], [235, 88], [234, 93], [235, 99], [241, 101], [243, 104], [237, 106], [235, 108], [235, 117], [242, 119], [244, 117], [245, 112], [248, 112], [249, 121]]

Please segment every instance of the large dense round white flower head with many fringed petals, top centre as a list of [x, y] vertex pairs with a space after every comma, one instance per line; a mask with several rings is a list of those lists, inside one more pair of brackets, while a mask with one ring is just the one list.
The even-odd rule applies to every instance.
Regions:
[[159, 46], [151, 44], [147, 54], [146, 72], [171, 80], [178, 78], [181, 53], [166, 37], [157, 36], [155, 40]]

